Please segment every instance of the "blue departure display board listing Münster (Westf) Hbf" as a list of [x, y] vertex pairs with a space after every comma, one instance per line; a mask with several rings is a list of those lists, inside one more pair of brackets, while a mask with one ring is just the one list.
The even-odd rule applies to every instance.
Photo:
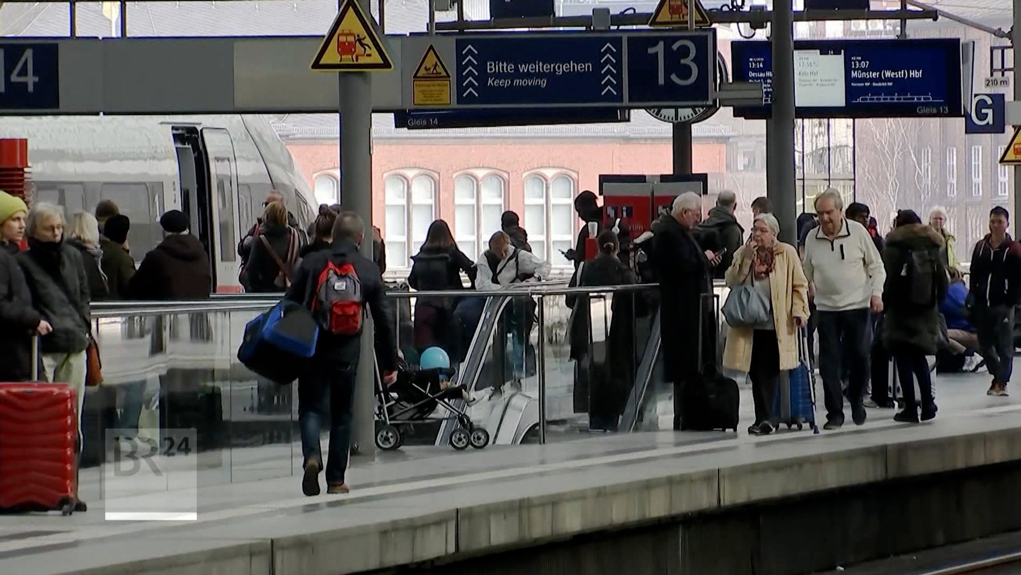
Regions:
[[[804, 40], [794, 42], [797, 117], [960, 117], [961, 41]], [[769, 42], [731, 43], [734, 82], [763, 85], [763, 105], [734, 115], [768, 117], [773, 96]]]

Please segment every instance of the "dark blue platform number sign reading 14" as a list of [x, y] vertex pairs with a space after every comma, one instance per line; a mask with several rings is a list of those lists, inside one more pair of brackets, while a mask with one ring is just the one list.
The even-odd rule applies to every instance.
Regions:
[[55, 42], [0, 43], [0, 113], [60, 107]]

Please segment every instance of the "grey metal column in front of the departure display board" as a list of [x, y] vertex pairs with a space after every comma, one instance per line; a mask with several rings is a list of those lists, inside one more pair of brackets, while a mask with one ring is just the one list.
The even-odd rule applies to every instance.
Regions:
[[[1016, 0], [1017, 1], [1017, 0]], [[773, 2], [773, 114], [766, 124], [766, 195], [780, 223], [780, 239], [797, 241], [794, 183], [794, 14], [792, 0]]]

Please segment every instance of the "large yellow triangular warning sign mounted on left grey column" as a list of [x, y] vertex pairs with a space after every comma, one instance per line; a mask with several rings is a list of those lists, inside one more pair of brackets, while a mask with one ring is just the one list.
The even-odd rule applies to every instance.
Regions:
[[393, 69], [373, 20], [355, 0], [344, 0], [309, 66], [315, 71]]

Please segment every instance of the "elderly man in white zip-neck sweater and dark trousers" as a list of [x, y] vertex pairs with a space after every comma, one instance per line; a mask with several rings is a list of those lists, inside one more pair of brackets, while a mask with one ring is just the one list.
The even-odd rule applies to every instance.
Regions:
[[841, 357], [850, 363], [850, 417], [857, 425], [865, 423], [862, 396], [869, 369], [869, 315], [883, 309], [886, 272], [868, 230], [843, 217], [840, 192], [829, 188], [819, 194], [816, 213], [819, 227], [805, 239], [805, 275], [819, 314], [819, 374], [826, 398], [824, 429], [837, 429], [843, 425]]

